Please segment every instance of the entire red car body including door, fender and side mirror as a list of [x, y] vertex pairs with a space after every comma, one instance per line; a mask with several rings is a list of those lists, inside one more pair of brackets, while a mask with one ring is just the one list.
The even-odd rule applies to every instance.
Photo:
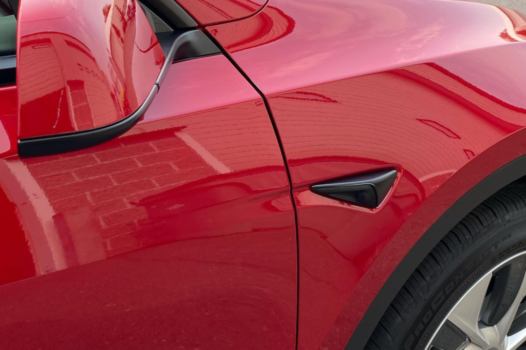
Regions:
[[[116, 61], [72, 26], [105, 14], [108, 42], [133, 33], [145, 18], [124, 0], [22, 0], [17, 84], [0, 88], [0, 348], [361, 348], [443, 228], [526, 175], [526, 16], [453, 0], [178, 3], [222, 53], [172, 64], [124, 135], [25, 158], [21, 139], [135, 110], [165, 57], [137, 31]], [[311, 191], [382, 169], [398, 176], [378, 208]]]

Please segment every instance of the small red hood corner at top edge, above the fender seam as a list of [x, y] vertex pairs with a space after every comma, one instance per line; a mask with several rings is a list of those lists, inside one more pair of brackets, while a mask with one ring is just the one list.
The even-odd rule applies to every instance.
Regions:
[[268, 0], [173, 0], [183, 6], [200, 25], [231, 22], [250, 17]]

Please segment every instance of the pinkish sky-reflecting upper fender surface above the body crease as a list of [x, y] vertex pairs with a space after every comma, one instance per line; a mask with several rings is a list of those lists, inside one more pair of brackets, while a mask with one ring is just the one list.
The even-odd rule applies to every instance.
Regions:
[[271, 96], [517, 42], [519, 18], [452, 0], [272, 0], [257, 16], [207, 30]]

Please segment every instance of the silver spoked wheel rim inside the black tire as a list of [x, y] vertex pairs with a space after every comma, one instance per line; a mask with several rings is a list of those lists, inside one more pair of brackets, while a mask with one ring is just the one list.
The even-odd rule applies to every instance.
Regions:
[[515, 350], [526, 341], [526, 252], [493, 267], [453, 305], [426, 350]]

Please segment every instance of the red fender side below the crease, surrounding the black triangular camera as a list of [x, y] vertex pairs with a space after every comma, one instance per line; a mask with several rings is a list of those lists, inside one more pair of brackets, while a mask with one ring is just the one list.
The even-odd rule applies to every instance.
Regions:
[[[523, 47], [499, 51], [514, 57], [526, 53]], [[483, 87], [475, 89], [459, 79], [469, 76], [465, 71], [448, 71], [450, 63], [454, 67], [457, 60], [469, 62], [483, 55], [473, 53], [443, 59], [436, 65], [399, 68], [310, 88], [341, 104], [318, 107], [319, 102], [270, 98], [284, 147], [290, 159], [296, 159], [289, 167], [298, 188], [301, 348], [345, 346], [372, 301], [370, 291], [378, 290], [385, 281], [378, 276], [387, 277], [403, 252], [447, 209], [441, 205], [431, 214], [424, 203], [431, 199], [431, 203], [446, 201], [450, 205], [476, 183], [469, 182], [453, 195], [446, 192], [451, 197], [445, 199], [443, 191], [436, 192], [446, 181], [455, 181], [457, 172], [468, 165], [469, 176], [482, 179], [480, 165], [469, 163], [478, 159], [476, 156], [493, 164], [487, 172], [482, 171], [485, 175], [517, 156], [502, 157], [500, 152], [505, 148], [496, 145], [526, 126], [526, 105], [510, 108], [503, 101], [507, 89], [488, 96], [481, 93]], [[519, 60], [510, 64], [515, 69], [505, 74], [509, 87], [519, 86], [526, 77], [514, 76]], [[473, 70], [479, 71], [480, 66], [473, 66]], [[517, 142], [518, 138], [514, 149], [521, 147]], [[493, 149], [487, 152], [490, 147]], [[360, 159], [342, 158], [339, 166], [322, 166], [304, 159], [312, 155], [328, 159], [359, 155]], [[403, 171], [392, 198], [378, 211], [356, 210], [331, 201], [320, 203], [302, 187], [318, 179], [377, 169], [379, 162], [399, 164]], [[318, 219], [327, 217], [330, 223]], [[402, 234], [403, 240], [398, 238]], [[394, 246], [388, 249], [391, 245], [399, 252], [392, 251]], [[311, 256], [318, 257], [316, 263], [311, 262]], [[323, 300], [322, 304], [330, 307], [320, 310], [312, 306], [314, 300]], [[325, 327], [313, 326], [310, 320], [314, 318], [326, 320]]]

